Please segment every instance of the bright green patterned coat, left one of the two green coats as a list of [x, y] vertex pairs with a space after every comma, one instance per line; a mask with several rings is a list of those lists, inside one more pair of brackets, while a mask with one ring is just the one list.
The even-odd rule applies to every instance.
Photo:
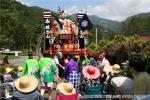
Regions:
[[28, 59], [24, 62], [22, 76], [34, 75], [38, 78], [38, 62], [36, 59]]

